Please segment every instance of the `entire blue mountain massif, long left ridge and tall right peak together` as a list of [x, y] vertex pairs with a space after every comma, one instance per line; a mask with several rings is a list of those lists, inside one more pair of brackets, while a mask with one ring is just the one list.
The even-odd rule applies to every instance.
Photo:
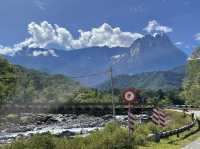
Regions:
[[[187, 55], [166, 34], [160, 33], [145, 35], [130, 48], [92, 47], [71, 51], [24, 48], [7, 59], [28, 68], [69, 76], [101, 72], [112, 65], [115, 75], [119, 75], [168, 70], [185, 64]], [[104, 75], [79, 81], [92, 86], [106, 78]]]

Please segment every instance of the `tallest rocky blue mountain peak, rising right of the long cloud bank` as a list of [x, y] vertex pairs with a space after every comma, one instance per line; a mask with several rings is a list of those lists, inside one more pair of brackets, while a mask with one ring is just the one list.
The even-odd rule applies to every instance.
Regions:
[[125, 74], [169, 70], [184, 65], [186, 59], [186, 54], [166, 34], [146, 35], [132, 44], [118, 69]]

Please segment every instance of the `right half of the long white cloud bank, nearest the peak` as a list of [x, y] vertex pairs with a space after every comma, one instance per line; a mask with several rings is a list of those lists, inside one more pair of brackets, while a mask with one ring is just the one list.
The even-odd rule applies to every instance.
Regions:
[[130, 47], [133, 41], [143, 37], [139, 33], [122, 32], [119, 27], [112, 28], [107, 23], [99, 28], [93, 28], [91, 31], [79, 30], [79, 33], [79, 39], [72, 43], [72, 47], [75, 49], [93, 46]]

